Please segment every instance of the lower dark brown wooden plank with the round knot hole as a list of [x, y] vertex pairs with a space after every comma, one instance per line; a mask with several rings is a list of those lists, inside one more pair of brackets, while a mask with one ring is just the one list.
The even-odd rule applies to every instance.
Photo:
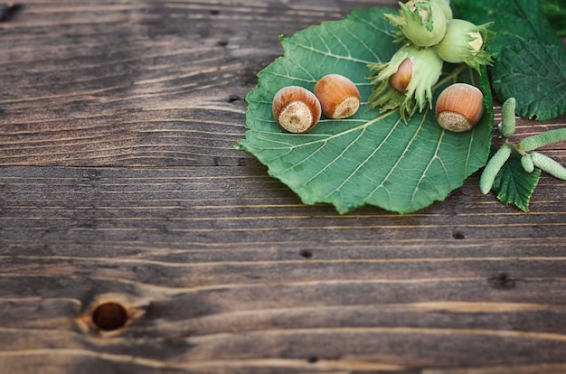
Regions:
[[[524, 214], [479, 197], [476, 182], [423, 212], [340, 216], [255, 168], [5, 168], [0, 362], [21, 372], [48, 357], [69, 372], [563, 365], [563, 205], [544, 196]], [[490, 209], [470, 210], [478, 200]], [[129, 312], [126, 328], [92, 323], [108, 301]]]

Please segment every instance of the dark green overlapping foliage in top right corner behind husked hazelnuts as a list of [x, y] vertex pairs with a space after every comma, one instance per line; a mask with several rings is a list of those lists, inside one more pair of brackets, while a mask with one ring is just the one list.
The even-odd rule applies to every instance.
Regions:
[[492, 69], [497, 98], [516, 98], [517, 114], [547, 120], [566, 113], [566, 52], [538, 0], [453, 0], [458, 16], [495, 22]]

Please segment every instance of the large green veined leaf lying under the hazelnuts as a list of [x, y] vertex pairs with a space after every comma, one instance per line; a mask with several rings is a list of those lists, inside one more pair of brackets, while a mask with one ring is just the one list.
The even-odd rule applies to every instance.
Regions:
[[[383, 21], [390, 9], [358, 10], [341, 21], [309, 27], [282, 39], [285, 56], [259, 72], [246, 100], [248, 131], [237, 147], [254, 154], [269, 174], [287, 184], [307, 204], [329, 202], [339, 212], [364, 204], [407, 213], [444, 200], [486, 164], [493, 109], [486, 72], [448, 67], [435, 90], [456, 80], [480, 85], [486, 111], [466, 133], [441, 129], [431, 110], [405, 124], [398, 111], [380, 113], [365, 102], [354, 117], [323, 118], [308, 134], [288, 134], [271, 113], [278, 89], [313, 89], [317, 79], [340, 73], [352, 79], [363, 101], [372, 90], [368, 63], [389, 61], [399, 45]], [[459, 71], [459, 74], [458, 74]], [[436, 97], [435, 97], [436, 99]]]

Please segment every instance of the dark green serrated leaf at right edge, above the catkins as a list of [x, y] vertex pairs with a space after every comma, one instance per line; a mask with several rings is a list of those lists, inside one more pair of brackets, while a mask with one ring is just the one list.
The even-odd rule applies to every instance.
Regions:
[[563, 47], [520, 41], [492, 68], [498, 98], [515, 98], [521, 117], [545, 121], [566, 112], [566, 54]]

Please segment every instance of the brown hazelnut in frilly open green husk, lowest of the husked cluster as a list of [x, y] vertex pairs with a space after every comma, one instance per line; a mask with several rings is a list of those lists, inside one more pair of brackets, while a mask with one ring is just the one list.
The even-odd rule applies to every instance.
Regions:
[[439, 80], [443, 61], [430, 48], [405, 45], [385, 63], [370, 64], [368, 77], [373, 92], [370, 108], [382, 111], [399, 108], [401, 118], [411, 116], [417, 108], [432, 108], [432, 86]]

